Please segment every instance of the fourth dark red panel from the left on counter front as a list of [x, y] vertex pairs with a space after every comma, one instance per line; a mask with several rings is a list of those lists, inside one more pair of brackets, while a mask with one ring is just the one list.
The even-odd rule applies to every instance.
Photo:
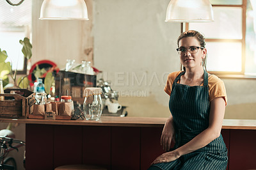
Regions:
[[140, 169], [140, 128], [112, 127], [111, 139], [111, 169]]

